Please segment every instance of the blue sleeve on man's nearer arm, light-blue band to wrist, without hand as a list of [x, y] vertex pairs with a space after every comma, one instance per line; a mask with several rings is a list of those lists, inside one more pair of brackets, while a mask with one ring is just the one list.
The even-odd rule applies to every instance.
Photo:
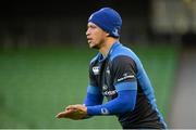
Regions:
[[118, 115], [133, 110], [137, 92], [134, 88], [136, 88], [136, 82], [122, 82], [117, 84], [118, 98], [102, 105], [87, 106], [87, 114], [90, 116]]

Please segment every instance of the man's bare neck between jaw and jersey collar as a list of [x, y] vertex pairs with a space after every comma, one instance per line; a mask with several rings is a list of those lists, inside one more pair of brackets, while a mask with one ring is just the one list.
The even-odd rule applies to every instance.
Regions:
[[103, 47], [99, 49], [99, 52], [106, 57], [113, 46], [114, 42], [117, 42], [118, 39], [114, 38], [108, 38]]

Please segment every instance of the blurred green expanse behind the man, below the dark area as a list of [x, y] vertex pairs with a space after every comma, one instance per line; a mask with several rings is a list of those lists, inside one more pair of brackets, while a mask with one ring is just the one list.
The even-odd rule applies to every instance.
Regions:
[[[177, 50], [133, 47], [167, 118]], [[83, 103], [88, 64], [96, 50], [66, 47], [0, 52], [0, 128], [121, 128], [114, 116], [57, 119], [66, 105]]]

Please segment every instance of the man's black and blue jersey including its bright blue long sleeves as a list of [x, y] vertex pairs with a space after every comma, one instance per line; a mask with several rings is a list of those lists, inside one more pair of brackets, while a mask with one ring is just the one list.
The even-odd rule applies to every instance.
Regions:
[[123, 128], [166, 128], [142, 62], [120, 42], [90, 61], [84, 104], [89, 116], [115, 115]]

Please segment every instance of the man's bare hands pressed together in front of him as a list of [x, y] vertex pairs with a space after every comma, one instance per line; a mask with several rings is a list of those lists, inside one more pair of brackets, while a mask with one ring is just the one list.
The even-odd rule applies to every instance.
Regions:
[[87, 107], [82, 104], [70, 105], [64, 112], [59, 113], [57, 118], [70, 118], [74, 120], [84, 119], [87, 117]]

